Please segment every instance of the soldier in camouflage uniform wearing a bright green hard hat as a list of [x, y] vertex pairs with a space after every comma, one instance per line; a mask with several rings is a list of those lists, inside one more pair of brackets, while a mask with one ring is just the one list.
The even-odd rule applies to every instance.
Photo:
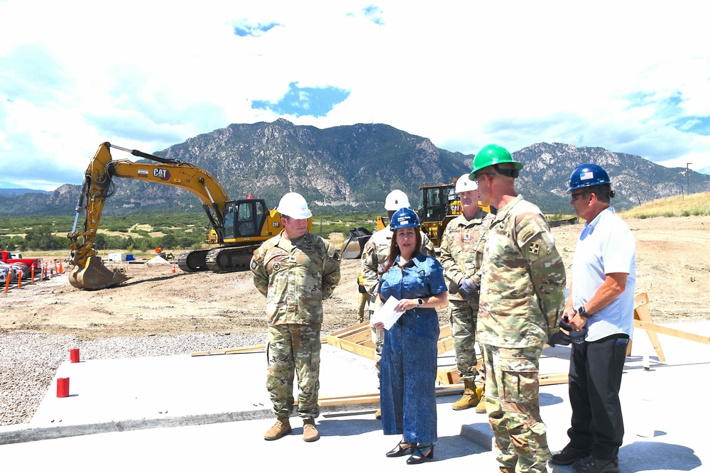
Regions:
[[537, 206], [515, 192], [523, 168], [501, 146], [474, 158], [471, 179], [498, 214], [481, 266], [479, 342], [486, 364], [486, 411], [501, 472], [547, 472], [550, 449], [540, 418], [540, 354], [559, 330], [565, 275], [555, 238]]

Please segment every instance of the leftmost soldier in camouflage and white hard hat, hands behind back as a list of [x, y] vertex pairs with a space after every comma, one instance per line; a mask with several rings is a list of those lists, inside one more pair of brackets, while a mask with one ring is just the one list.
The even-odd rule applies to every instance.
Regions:
[[304, 198], [289, 192], [277, 207], [283, 231], [265, 241], [251, 259], [254, 285], [266, 296], [268, 389], [275, 425], [264, 434], [276, 440], [291, 432], [294, 370], [303, 440], [320, 438], [315, 418], [320, 371], [322, 301], [340, 281], [340, 255], [333, 244], [307, 232], [311, 212]]

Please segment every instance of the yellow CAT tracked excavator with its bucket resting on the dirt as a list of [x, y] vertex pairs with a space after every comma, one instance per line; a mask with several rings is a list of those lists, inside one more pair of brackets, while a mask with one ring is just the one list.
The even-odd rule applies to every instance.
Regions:
[[[146, 158], [154, 163], [136, 163], [111, 158], [110, 148]], [[215, 248], [185, 251], [178, 256], [182, 271], [214, 271], [218, 273], [249, 269], [253, 251], [281, 231], [280, 214], [269, 210], [263, 199], [232, 200], [222, 185], [206, 170], [190, 163], [160, 158], [138, 150], [102, 143], [84, 173], [82, 192], [77, 203], [71, 243], [74, 265], [69, 281], [75, 288], [102, 289], [126, 281], [121, 271], [104, 266], [93, 243], [107, 197], [114, 192], [114, 178], [143, 180], [189, 190], [202, 200], [202, 208], [215, 235]], [[84, 210], [84, 227], [77, 232], [77, 220]], [[308, 219], [308, 231], [312, 221]], [[81, 239], [81, 241], [80, 241]]]

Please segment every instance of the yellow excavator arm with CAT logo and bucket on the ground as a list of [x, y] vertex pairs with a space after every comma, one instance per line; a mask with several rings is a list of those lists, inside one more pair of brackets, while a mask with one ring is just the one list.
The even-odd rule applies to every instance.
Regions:
[[[154, 163], [135, 163], [130, 160], [114, 161], [110, 148], [147, 158]], [[222, 243], [224, 205], [229, 201], [229, 197], [222, 185], [211, 174], [190, 163], [160, 158], [141, 151], [102, 143], [84, 173], [84, 183], [77, 203], [74, 227], [72, 232], [67, 235], [71, 244], [71, 259], [74, 264], [69, 276], [72, 286], [82, 289], [101, 289], [126, 281], [126, 276], [123, 273], [111, 271], [104, 266], [94, 249], [94, 239], [96, 239], [104, 203], [107, 197], [110, 197], [114, 192], [113, 178], [116, 177], [144, 180], [189, 190], [202, 200], [202, 207], [217, 234], [217, 240]], [[84, 227], [81, 232], [77, 232], [77, 221], [82, 210], [84, 210]]]

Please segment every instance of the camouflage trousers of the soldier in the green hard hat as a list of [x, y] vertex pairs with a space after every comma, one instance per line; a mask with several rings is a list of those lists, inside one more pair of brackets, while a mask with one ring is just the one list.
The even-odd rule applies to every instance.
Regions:
[[547, 472], [547, 425], [540, 418], [537, 372], [542, 347], [484, 344], [486, 411], [496, 460], [513, 472]]

